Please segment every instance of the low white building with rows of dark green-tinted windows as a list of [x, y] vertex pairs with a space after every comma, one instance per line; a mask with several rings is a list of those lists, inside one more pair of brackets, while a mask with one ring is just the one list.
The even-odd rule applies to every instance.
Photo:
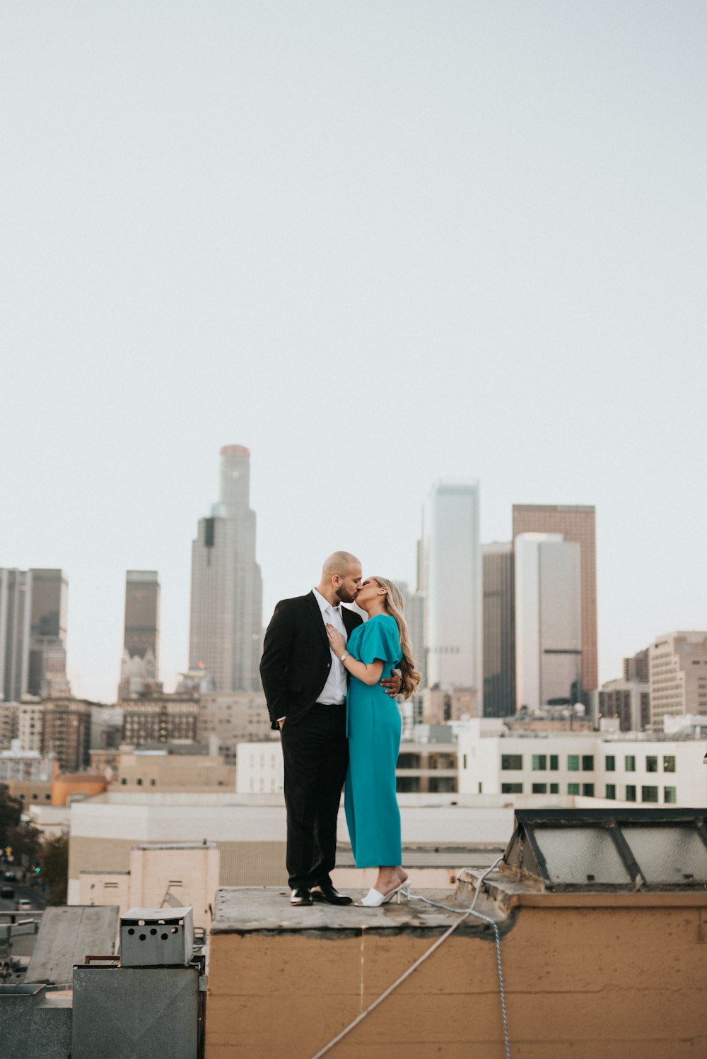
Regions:
[[459, 733], [460, 794], [575, 794], [643, 805], [705, 805], [704, 744], [637, 732], [509, 735], [492, 719]]

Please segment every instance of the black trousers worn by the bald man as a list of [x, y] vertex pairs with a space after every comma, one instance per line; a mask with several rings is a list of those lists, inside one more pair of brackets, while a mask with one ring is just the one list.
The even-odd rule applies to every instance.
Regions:
[[336, 821], [349, 764], [347, 707], [315, 703], [281, 732], [287, 809], [289, 885], [331, 882]]

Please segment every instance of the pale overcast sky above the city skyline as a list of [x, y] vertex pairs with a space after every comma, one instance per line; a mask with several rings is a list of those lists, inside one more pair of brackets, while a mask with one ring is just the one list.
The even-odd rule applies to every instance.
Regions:
[[218, 449], [265, 614], [336, 548], [414, 578], [440, 477], [597, 507], [600, 677], [707, 628], [707, 5], [0, 0], [0, 566], [126, 569], [188, 658]]

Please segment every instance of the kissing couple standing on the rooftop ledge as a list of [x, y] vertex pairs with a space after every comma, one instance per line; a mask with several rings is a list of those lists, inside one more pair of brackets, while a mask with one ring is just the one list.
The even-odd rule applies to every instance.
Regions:
[[[365, 622], [342, 606], [354, 602]], [[420, 683], [400, 589], [386, 577], [364, 580], [354, 555], [334, 552], [317, 588], [275, 608], [260, 671], [282, 742], [290, 903], [351, 904], [331, 878], [344, 786], [356, 867], [378, 868], [356, 904], [384, 904], [407, 882], [395, 796], [395, 698], [409, 698]]]

